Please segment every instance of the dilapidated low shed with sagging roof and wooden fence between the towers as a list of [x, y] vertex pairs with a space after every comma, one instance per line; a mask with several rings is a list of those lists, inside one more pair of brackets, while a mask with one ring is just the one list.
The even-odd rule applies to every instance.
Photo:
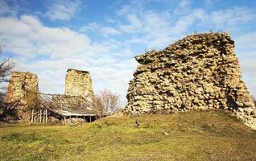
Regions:
[[[60, 94], [39, 93], [39, 108], [32, 109], [31, 122], [65, 122], [66, 119], [80, 118], [85, 122], [93, 122], [96, 114], [92, 102], [83, 97]], [[46, 118], [43, 118], [46, 117]]]

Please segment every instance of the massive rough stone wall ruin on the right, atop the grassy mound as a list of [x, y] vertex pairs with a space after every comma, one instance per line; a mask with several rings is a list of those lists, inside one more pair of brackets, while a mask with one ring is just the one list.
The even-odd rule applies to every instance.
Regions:
[[256, 129], [255, 106], [227, 33], [189, 35], [163, 51], [136, 56], [126, 112], [230, 109]]

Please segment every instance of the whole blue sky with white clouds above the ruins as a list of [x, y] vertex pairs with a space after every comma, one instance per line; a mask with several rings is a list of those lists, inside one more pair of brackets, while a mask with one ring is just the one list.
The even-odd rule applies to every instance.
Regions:
[[43, 93], [64, 93], [66, 70], [77, 68], [125, 103], [134, 56], [194, 32], [228, 31], [256, 96], [255, 19], [253, 0], [0, 0], [0, 44], [15, 70], [38, 74]]

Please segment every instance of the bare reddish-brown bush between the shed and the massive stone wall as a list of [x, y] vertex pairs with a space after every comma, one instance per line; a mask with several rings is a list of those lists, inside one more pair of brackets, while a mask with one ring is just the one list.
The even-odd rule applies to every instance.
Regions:
[[119, 96], [109, 90], [102, 90], [94, 97], [93, 106], [100, 118], [108, 116], [120, 109]]

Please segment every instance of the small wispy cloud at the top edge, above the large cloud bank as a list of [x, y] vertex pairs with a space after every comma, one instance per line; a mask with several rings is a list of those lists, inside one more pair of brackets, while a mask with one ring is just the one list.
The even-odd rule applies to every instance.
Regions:
[[46, 16], [52, 21], [70, 20], [76, 14], [77, 10], [79, 10], [80, 5], [81, 1], [79, 0], [53, 1], [52, 3], [47, 4]]

